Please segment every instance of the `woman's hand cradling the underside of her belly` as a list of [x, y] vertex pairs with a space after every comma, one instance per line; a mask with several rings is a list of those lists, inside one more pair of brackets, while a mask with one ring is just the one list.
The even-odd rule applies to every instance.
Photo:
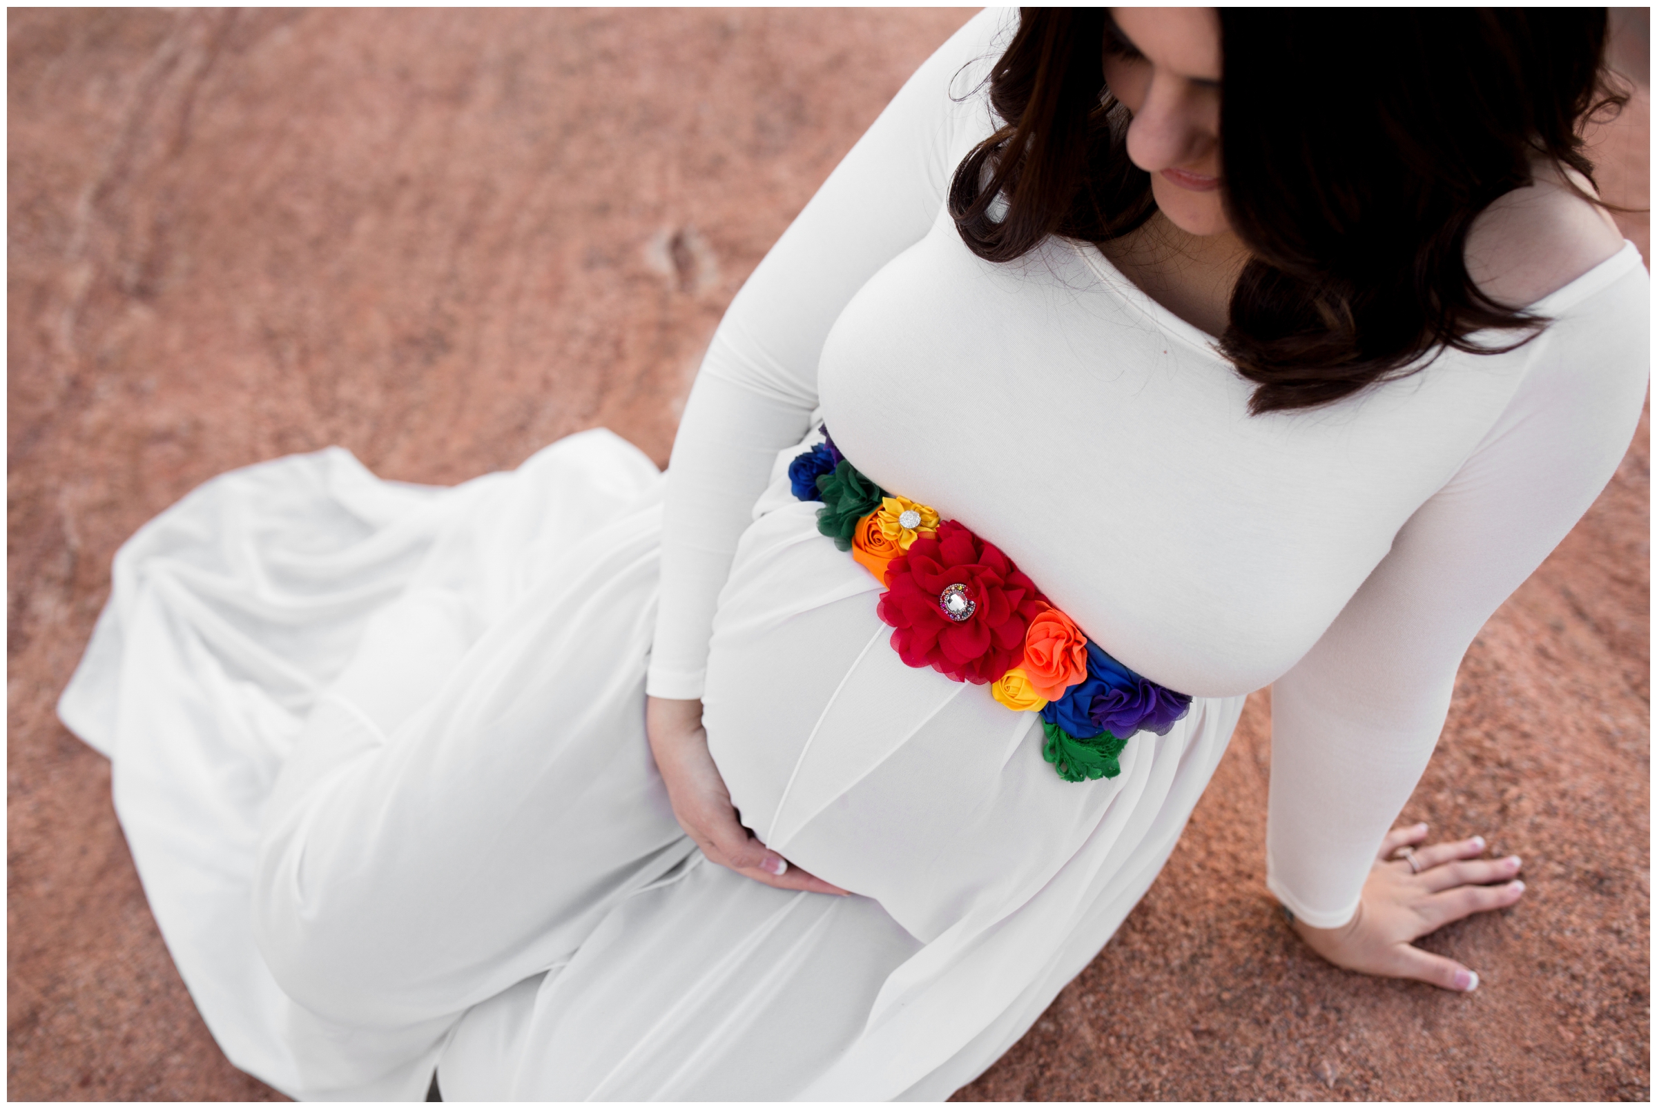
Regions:
[[679, 828], [689, 833], [711, 862], [777, 889], [845, 894], [838, 886], [789, 866], [780, 854], [742, 828], [731, 804], [731, 791], [708, 753], [703, 702], [646, 697], [645, 733], [661, 780], [668, 785], [668, 801]]

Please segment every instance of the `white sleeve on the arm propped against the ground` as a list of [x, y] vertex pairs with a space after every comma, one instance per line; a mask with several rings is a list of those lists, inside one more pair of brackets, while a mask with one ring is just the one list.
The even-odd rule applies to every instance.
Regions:
[[[1607, 281], [1617, 276], [1627, 275]], [[1357, 910], [1438, 742], [1468, 644], [1594, 502], [1634, 434], [1649, 281], [1576, 293], [1571, 314], [1531, 343], [1496, 425], [1273, 685], [1266, 881], [1314, 927]], [[1544, 316], [1559, 308], [1551, 300], [1538, 305]]]

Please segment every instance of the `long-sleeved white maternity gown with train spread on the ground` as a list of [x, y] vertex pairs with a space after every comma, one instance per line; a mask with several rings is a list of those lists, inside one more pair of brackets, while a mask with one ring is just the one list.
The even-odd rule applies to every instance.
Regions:
[[[1249, 417], [1248, 382], [1092, 247], [973, 257], [986, 12], [737, 295], [668, 475], [603, 430], [456, 488], [340, 449], [134, 535], [63, 695], [179, 972], [297, 1097], [944, 1097], [1099, 952], [1274, 685], [1269, 884], [1357, 904], [1463, 651], [1609, 480], [1647, 377], [1632, 245], [1498, 356]], [[1114, 780], [903, 665], [784, 468], [827, 420], [1195, 695]], [[679, 831], [646, 690], [701, 697], [744, 821], [852, 897]]]

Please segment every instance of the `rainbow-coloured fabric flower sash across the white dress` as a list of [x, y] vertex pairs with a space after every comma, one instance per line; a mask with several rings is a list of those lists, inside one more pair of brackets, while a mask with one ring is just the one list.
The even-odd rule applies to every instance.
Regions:
[[1039, 712], [1042, 756], [1065, 781], [1115, 778], [1133, 735], [1167, 735], [1190, 710], [1190, 697], [1084, 636], [999, 548], [885, 492], [822, 432], [824, 442], [789, 465], [789, 482], [799, 500], [822, 502], [817, 530], [886, 586], [877, 612], [903, 662]]

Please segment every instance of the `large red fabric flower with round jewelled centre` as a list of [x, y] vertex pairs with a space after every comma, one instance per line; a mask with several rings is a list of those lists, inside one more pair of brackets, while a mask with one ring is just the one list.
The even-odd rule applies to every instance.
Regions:
[[[953, 584], [976, 606], [961, 622], [938, 604]], [[1046, 607], [1036, 583], [998, 546], [944, 520], [935, 536], [916, 538], [891, 559], [875, 611], [895, 629], [891, 646], [908, 665], [988, 685], [1024, 659], [1024, 632]]]

